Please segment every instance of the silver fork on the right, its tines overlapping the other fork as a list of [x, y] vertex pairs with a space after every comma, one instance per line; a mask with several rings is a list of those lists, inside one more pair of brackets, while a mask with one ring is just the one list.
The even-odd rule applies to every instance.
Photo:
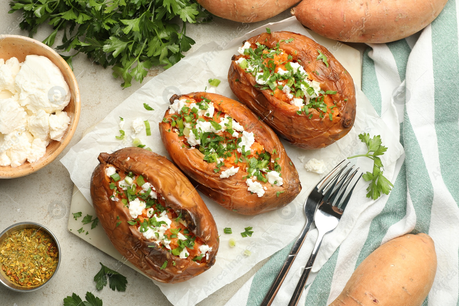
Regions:
[[[358, 181], [362, 177], [361, 172], [357, 180], [351, 185], [354, 177], [358, 173], [359, 168], [353, 170], [355, 166], [350, 167], [346, 172], [344, 170], [349, 166], [347, 163], [344, 168], [325, 186], [325, 195], [319, 203], [317, 212], [314, 215], [314, 223], [319, 230], [316, 244], [314, 245], [313, 252], [309, 256], [308, 262], [304, 267], [303, 273], [298, 281], [297, 287], [293, 292], [288, 306], [297, 306], [298, 301], [303, 293], [304, 286], [308, 281], [309, 273], [313, 267], [314, 260], [319, 253], [319, 247], [325, 234], [332, 232], [341, 219], [341, 215], [346, 209], [347, 203], [357, 186]], [[344, 172], [344, 174], [342, 174]], [[342, 174], [342, 175], [341, 175]]]

